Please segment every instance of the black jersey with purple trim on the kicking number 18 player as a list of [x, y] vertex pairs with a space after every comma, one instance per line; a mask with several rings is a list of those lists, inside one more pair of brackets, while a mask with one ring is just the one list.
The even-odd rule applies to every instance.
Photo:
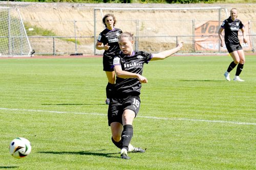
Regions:
[[[122, 52], [114, 58], [113, 67], [120, 65], [122, 70], [142, 75], [144, 63], [148, 63], [153, 55], [147, 52], [133, 52], [132, 56], [126, 56]], [[114, 94], [118, 96], [127, 96], [140, 94], [141, 83], [137, 78], [122, 79], [117, 77], [114, 86]]]

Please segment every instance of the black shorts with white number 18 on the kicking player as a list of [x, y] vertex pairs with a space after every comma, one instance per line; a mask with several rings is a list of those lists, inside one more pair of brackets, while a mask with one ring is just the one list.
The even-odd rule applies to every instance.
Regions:
[[135, 116], [140, 109], [140, 97], [139, 96], [127, 96], [126, 98], [112, 98], [110, 99], [110, 105], [108, 110], [109, 126], [113, 122], [122, 123], [123, 111], [130, 109], [134, 111]]

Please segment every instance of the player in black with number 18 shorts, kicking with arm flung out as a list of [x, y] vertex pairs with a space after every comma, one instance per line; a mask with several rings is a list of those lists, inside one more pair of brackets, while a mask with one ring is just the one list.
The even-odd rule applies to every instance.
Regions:
[[[143, 51], [133, 51], [134, 37], [124, 32], [118, 37], [121, 52], [114, 58], [113, 67], [116, 74], [116, 84], [110, 100], [108, 119], [112, 132], [113, 143], [121, 149], [121, 158], [130, 159], [127, 151], [133, 137], [133, 120], [140, 108], [141, 83], [147, 83], [142, 76], [143, 64], [149, 61], [165, 59], [181, 50], [183, 44], [178, 43], [176, 48], [157, 54]], [[140, 148], [135, 152], [145, 152]]]

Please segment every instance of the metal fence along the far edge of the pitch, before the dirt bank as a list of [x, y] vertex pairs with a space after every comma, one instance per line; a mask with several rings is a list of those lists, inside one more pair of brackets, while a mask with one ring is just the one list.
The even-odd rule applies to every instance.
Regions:
[[[156, 53], [176, 46], [184, 41], [182, 53], [204, 53], [196, 51], [194, 33], [195, 27], [206, 20], [119, 20], [117, 28], [134, 33], [135, 49]], [[154, 23], [154, 24], [152, 24]], [[186, 23], [181, 24], [181, 23]], [[95, 51], [95, 37], [104, 29], [102, 21], [97, 21], [94, 30], [93, 20], [42, 21], [26, 20], [26, 30], [35, 55], [101, 55], [103, 51]], [[56, 27], [58, 26], [58, 27]], [[129, 26], [129, 27], [127, 27]], [[40, 31], [38, 31], [40, 30]], [[255, 50], [256, 21], [250, 21], [252, 52]], [[48, 32], [47, 36], [38, 36], [37, 32]], [[35, 34], [35, 35], [33, 35]], [[210, 36], [217, 37], [218, 34]], [[212, 53], [225, 52], [214, 51]], [[208, 52], [207, 52], [208, 53]]]

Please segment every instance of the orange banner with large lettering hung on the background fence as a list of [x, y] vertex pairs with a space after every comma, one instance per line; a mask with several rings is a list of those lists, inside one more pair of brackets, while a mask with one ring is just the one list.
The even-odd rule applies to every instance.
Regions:
[[[219, 21], [207, 21], [195, 28], [195, 50], [196, 51], [215, 51], [219, 52], [219, 36], [218, 31], [222, 23]], [[246, 35], [249, 35], [249, 22], [243, 23]], [[222, 32], [224, 36], [224, 31]], [[252, 51], [252, 44], [250, 38], [247, 36], [247, 43], [243, 42], [242, 32], [238, 32], [240, 43], [245, 51]], [[200, 37], [199, 37], [200, 36]], [[223, 37], [224, 38], [224, 37]], [[220, 47], [222, 52], [227, 51], [226, 46]]]

